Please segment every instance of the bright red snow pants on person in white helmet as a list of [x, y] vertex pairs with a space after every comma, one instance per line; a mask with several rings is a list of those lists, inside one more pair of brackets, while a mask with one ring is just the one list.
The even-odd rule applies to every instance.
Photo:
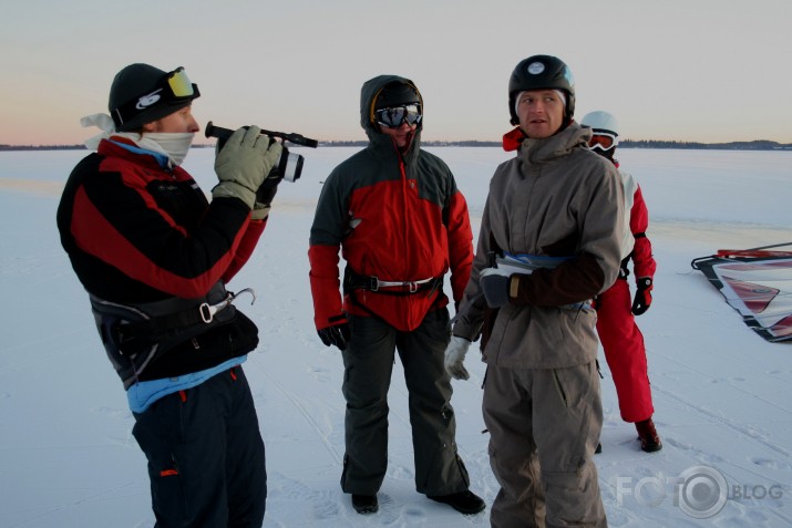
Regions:
[[614, 286], [597, 297], [597, 333], [616, 385], [621, 420], [641, 422], [651, 417], [655, 407], [644, 334], [636, 325], [631, 308], [627, 279], [616, 279]]

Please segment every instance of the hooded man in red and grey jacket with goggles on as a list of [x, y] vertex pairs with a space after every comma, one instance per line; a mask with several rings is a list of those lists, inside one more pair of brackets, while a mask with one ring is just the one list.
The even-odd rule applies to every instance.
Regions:
[[[484, 509], [456, 453], [450, 325], [443, 276], [459, 302], [473, 260], [464, 197], [451, 170], [420, 148], [423, 101], [409, 79], [363, 84], [369, 145], [325, 182], [310, 232], [315, 322], [341, 350], [347, 400], [341, 488], [360, 514], [378, 510], [388, 466], [388, 389], [394, 351], [410, 392], [415, 488], [463, 514]], [[339, 250], [347, 261], [339, 287]]]

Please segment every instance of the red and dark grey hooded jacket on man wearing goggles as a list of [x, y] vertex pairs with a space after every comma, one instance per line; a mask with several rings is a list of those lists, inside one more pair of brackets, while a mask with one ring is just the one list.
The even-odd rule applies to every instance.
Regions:
[[420, 148], [422, 123], [404, 153], [372, 123], [373, 102], [392, 81], [413, 84], [394, 75], [363, 84], [360, 122], [369, 144], [332, 170], [317, 204], [308, 250], [317, 329], [346, 312], [412, 331], [429, 310], [449, 302], [442, 289], [404, 296], [359, 289], [342, 298], [339, 250], [347, 272], [381, 281], [442, 279], [450, 270], [457, 302], [470, 277], [467, 204], [448, 165]]

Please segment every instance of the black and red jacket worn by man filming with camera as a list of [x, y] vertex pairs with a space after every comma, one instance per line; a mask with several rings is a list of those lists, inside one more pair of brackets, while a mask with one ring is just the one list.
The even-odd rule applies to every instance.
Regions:
[[[155, 156], [113, 137], [72, 170], [58, 208], [58, 228], [92, 299], [132, 307], [168, 300], [188, 306], [187, 300], [228, 282], [250, 257], [265, 222], [249, 217], [241, 200], [208, 203], [184, 169], [164, 169]], [[256, 325], [237, 311], [224, 324], [207, 325], [197, 338], [155, 356], [137, 379], [209, 369], [257, 343]]]

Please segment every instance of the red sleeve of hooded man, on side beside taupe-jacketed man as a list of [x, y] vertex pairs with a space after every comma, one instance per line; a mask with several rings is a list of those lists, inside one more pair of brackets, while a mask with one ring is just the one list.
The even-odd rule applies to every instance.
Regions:
[[451, 288], [454, 301], [460, 303], [473, 266], [473, 230], [467, 214], [467, 203], [462, 193], [457, 191], [451, 197], [448, 218]]

